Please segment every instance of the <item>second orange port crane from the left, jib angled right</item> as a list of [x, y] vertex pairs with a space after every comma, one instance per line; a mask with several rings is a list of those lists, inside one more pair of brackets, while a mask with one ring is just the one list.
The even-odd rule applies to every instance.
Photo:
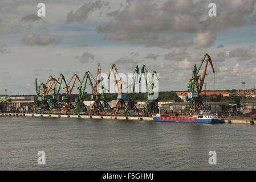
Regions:
[[[70, 83], [71, 83], [71, 81], [72, 81], [73, 79], [74, 79], [74, 81], [73, 81], [72, 85], [70, 86]], [[68, 110], [74, 109], [74, 106], [71, 104], [71, 98], [70, 98], [70, 96], [71, 96], [71, 94], [72, 94], [72, 90], [73, 90], [73, 88], [74, 88], [74, 86], [75, 86], [76, 80], [78, 80], [78, 81], [80, 82], [80, 84], [81, 84], [81, 81], [80, 81], [80, 79], [79, 79], [79, 76], [76, 75], [76, 74], [74, 74], [74, 75], [72, 76], [72, 78], [70, 79], [70, 81], [68, 82], [68, 84], [66, 85], [66, 87], [62, 88], [62, 89], [66, 89], [66, 96], [62, 96], [62, 100], [64, 101], [64, 105], [63, 105], [63, 107], [62, 107], [63, 110], [68, 111]]]

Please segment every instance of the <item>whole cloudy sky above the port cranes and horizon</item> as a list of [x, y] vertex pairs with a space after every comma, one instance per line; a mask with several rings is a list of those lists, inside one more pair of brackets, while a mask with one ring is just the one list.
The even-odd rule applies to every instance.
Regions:
[[[37, 16], [45, 3], [46, 17]], [[208, 5], [217, 5], [217, 17]], [[160, 74], [160, 90], [186, 90], [193, 65], [212, 57], [215, 88], [254, 88], [256, 0], [1, 0], [0, 94], [35, 94], [63, 73], [80, 77], [97, 63]], [[210, 67], [209, 67], [210, 68]], [[208, 69], [208, 89], [214, 74]], [[76, 89], [75, 89], [76, 90]]]

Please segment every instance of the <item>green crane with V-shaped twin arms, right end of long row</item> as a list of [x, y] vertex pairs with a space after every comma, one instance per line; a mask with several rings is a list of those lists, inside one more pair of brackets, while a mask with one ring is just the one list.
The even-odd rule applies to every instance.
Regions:
[[158, 105], [158, 98], [154, 97], [154, 88], [155, 88], [155, 81], [156, 79], [159, 80], [156, 71], [152, 72], [151, 77], [148, 74], [147, 68], [145, 65], [141, 68], [141, 75], [139, 83], [141, 83], [141, 77], [144, 76], [145, 79], [145, 86], [147, 89], [148, 98], [146, 104], [143, 108], [143, 116], [144, 117], [151, 117], [152, 113], [158, 113], [159, 108]]

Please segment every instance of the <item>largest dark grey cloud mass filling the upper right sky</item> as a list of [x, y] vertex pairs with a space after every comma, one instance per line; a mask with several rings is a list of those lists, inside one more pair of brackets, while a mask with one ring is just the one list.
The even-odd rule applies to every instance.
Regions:
[[[217, 17], [208, 15], [210, 2], [217, 4]], [[185, 35], [197, 34], [196, 47], [205, 48], [213, 45], [218, 32], [249, 23], [254, 5], [255, 0], [127, 0], [114, 20], [97, 31], [106, 40], [164, 48], [192, 46]]]

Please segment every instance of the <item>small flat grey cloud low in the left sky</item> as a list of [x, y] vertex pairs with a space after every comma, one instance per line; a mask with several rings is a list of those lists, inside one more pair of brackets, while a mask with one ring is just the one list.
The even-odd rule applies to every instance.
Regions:
[[25, 38], [23, 38], [23, 43], [27, 45], [39, 45], [39, 46], [47, 46], [49, 44], [58, 44], [62, 42], [63, 37], [52, 37], [50, 35], [36, 35], [29, 34]]

